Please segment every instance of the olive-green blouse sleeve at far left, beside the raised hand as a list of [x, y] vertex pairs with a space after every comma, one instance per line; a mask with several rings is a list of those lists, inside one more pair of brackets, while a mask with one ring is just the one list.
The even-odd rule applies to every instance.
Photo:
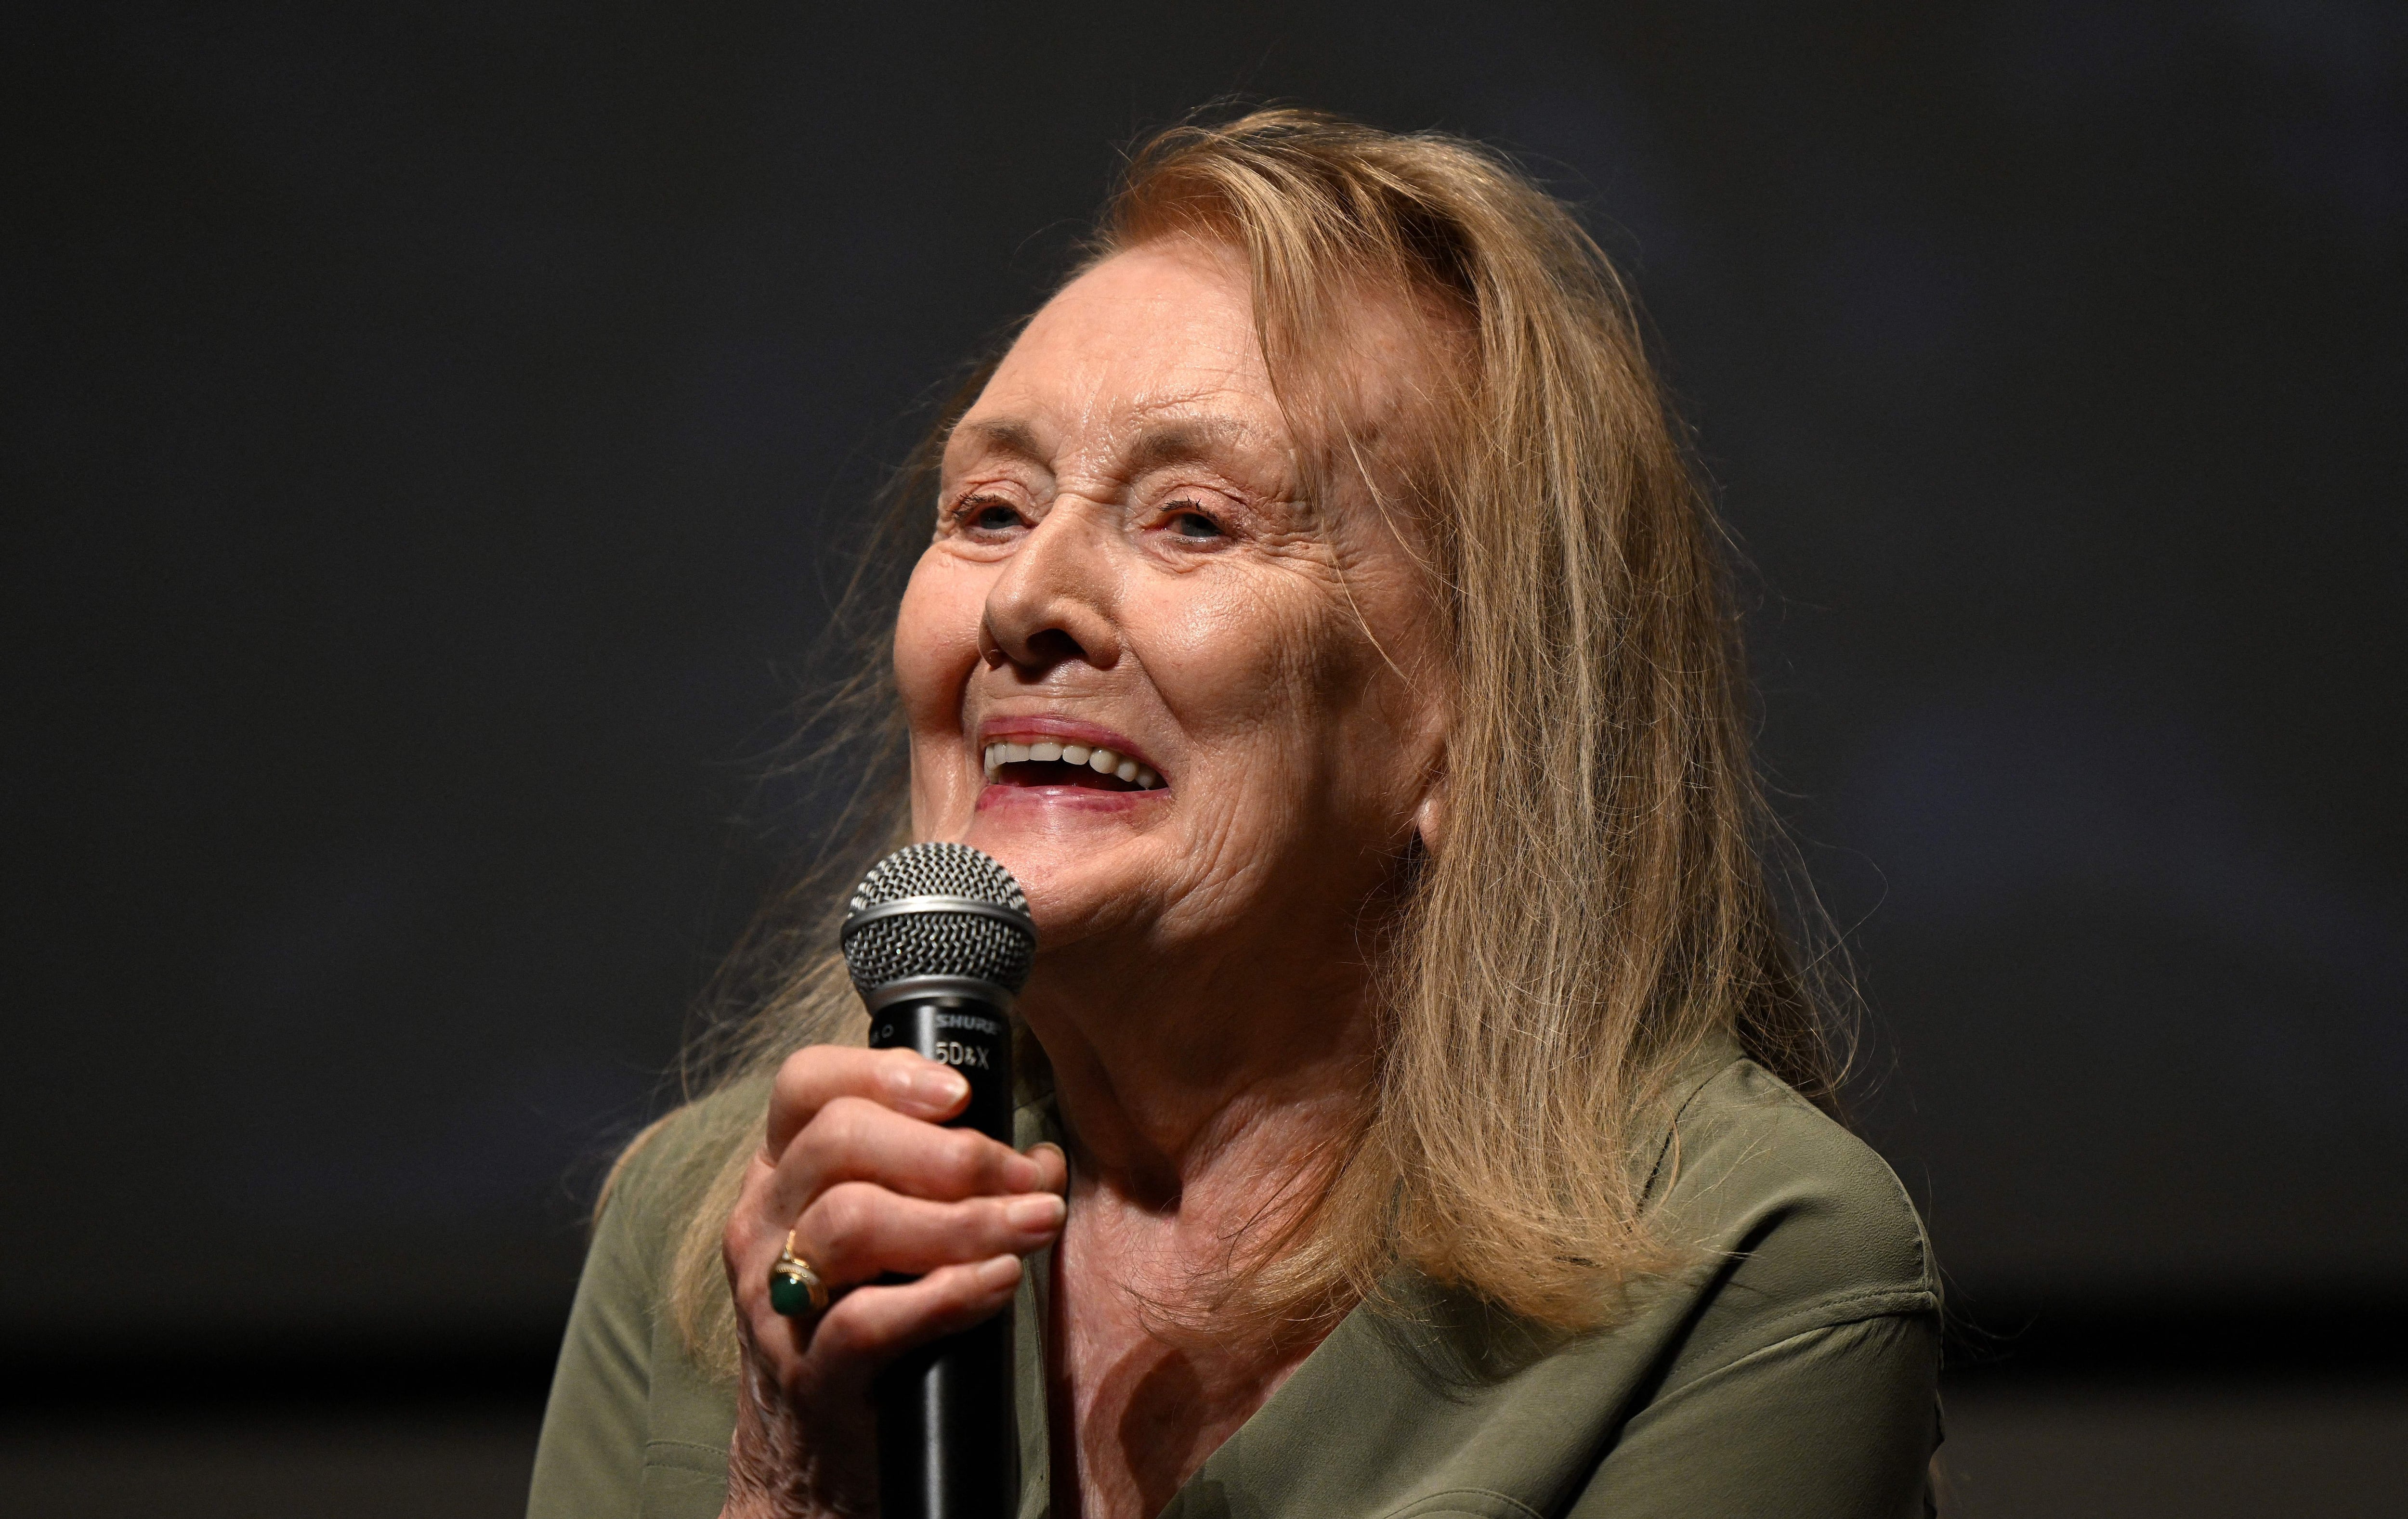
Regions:
[[[633, 1172], [633, 1160], [628, 1172]], [[636, 1519], [653, 1391], [655, 1271], [638, 1177], [595, 1228], [535, 1447], [527, 1519]]]

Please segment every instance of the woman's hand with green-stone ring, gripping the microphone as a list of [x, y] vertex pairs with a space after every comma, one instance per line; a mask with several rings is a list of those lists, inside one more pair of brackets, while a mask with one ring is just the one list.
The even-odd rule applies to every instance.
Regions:
[[[1021, 1257], [1062, 1230], [1062, 1151], [939, 1129], [968, 1098], [910, 1050], [814, 1045], [778, 1069], [722, 1242], [744, 1343], [722, 1519], [877, 1512], [869, 1379], [1011, 1302]], [[768, 1302], [787, 1230], [838, 1293], [821, 1314]], [[860, 1285], [889, 1271], [920, 1281]]]

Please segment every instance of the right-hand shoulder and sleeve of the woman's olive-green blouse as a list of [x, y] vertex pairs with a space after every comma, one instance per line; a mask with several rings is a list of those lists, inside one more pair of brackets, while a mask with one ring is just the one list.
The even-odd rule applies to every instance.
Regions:
[[1938, 1290], [1890, 1168], [1731, 1050], [1642, 1148], [1671, 1264], [1611, 1288], [1609, 1329], [1541, 1334], [1401, 1273], [1163, 1519], [1924, 1512]]

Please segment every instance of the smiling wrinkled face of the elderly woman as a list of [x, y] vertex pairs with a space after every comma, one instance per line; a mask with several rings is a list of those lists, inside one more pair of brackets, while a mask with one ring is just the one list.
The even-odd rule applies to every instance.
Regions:
[[[1353, 315], [1377, 460], [1426, 359], [1406, 311]], [[1353, 469], [1300, 501], [1315, 445], [1245, 265], [1194, 243], [1069, 284], [954, 428], [896, 623], [913, 828], [1002, 859], [1047, 948], [1351, 932], [1435, 826], [1445, 652], [1411, 530]]]

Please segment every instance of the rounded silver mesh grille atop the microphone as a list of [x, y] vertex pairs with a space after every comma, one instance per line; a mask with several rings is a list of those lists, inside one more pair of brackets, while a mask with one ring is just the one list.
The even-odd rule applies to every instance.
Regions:
[[889, 982], [913, 975], [963, 975], [1019, 992], [1028, 982], [1028, 961], [1038, 929], [1028, 922], [1028, 898], [1002, 864], [970, 845], [908, 845], [879, 859], [845, 905], [850, 915], [898, 903], [913, 896], [951, 896], [1004, 908], [1019, 922], [985, 912], [896, 912], [872, 922], [845, 920], [843, 946], [852, 987], [869, 997]]

